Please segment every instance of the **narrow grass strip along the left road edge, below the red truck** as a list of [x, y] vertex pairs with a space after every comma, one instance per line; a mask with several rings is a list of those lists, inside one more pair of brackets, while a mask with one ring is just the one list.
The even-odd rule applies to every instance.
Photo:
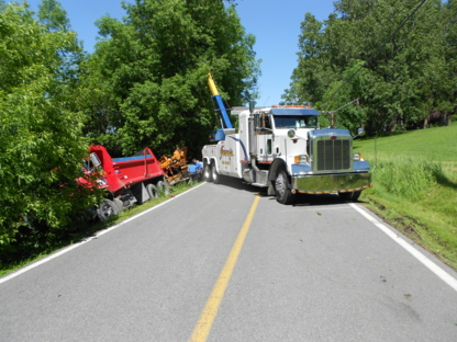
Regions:
[[196, 186], [199, 183], [187, 183], [187, 182], [181, 182], [178, 183], [174, 186], [170, 187], [171, 190], [171, 194], [169, 196], [165, 196], [164, 194], [161, 194], [158, 198], [152, 198], [141, 205], [135, 205], [131, 208], [126, 208], [123, 212], [121, 212], [119, 215], [112, 217], [110, 220], [108, 221], [96, 221], [92, 224], [87, 224], [85, 226], [79, 226], [79, 227], [75, 227], [75, 229], [73, 230], [71, 233], [64, 236], [59, 239], [59, 241], [56, 241], [52, 247], [47, 248], [47, 249], [43, 249], [40, 252], [30, 255], [26, 259], [23, 260], [18, 260], [14, 262], [10, 262], [10, 263], [2, 263], [0, 262], [0, 276], [3, 276], [8, 273], [11, 273], [13, 271], [16, 271], [32, 262], [38, 261], [40, 259], [43, 259], [56, 251], [58, 251], [59, 249], [63, 249], [67, 246], [70, 246], [73, 243], [76, 243], [78, 241], [80, 241], [81, 239], [85, 239], [87, 237], [93, 236], [94, 233], [97, 233], [100, 230], [107, 229], [110, 226], [113, 226], [115, 224], [119, 224], [141, 212], [144, 212], [151, 207], [154, 207], [165, 201], [168, 201], [170, 197], [174, 197], [180, 193], [183, 193], [185, 191]]

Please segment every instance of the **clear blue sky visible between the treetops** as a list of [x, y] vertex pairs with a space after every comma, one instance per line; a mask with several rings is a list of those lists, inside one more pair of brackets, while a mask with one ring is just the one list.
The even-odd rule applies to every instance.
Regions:
[[[12, 1], [5, 1], [12, 2]], [[27, 0], [37, 11], [41, 0]], [[118, 0], [60, 0], [67, 11], [71, 29], [83, 41], [85, 49], [93, 50], [97, 27], [94, 21], [104, 14], [122, 19], [125, 15]], [[126, 1], [133, 2], [133, 1]], [[298, 36], [304, 13], [317, 20], [328, 18], [334, 0], [237, 0], [236, 7], [247, 33], [256, 36], [257, 58], [263, 59], [259, 80], [260, 99], [257, 105], [278, 104], [283, 90], [289, 88], [290, 76], [297, 67]]]

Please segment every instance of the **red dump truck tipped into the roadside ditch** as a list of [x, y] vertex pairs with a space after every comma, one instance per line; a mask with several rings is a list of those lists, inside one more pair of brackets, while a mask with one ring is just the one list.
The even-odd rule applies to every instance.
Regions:
[[[141, 204], [159, 193], [169, 194], [167, 174], [153, 151], [146, 147], [132, 157], [111, 158], [107, 149], [100, 145], [91, 145], [90, 158], [85, 161], [85, 173], [97, 176], [97, 186], [107, 189], [109, 195], [97, 208], [101, 220], [116, 215], [124, 208]], [[93, 186], [85, 178], [78, 180], [87, 186]]]

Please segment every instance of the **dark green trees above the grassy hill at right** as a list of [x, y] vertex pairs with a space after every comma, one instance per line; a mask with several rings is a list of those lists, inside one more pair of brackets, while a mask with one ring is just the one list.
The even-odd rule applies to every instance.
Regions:
[[341, 0], [324, 22], [306, 13], [299, 65], [285, 98], [294, 93], [324, 110], [358, 98], [359, 106], [337, 113], [338, 123], [353, 132], [361, 125], [371, 133], [404, 129], [432, 110], [452, 112], [456, 90], [450, 80], [457, 70], [450, 52], [453, 2], [443, 8], [441, 1], [427, 1], [414, 12], [419, 4]]

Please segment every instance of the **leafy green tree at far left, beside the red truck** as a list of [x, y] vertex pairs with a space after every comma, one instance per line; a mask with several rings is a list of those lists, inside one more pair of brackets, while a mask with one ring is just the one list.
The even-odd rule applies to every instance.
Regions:
[[60, 77], [59, 52], [74, 49], [76, 35], [49, 32], [33, 14], [26, 4], [0, 12], [2, 248], [24, 228], [51, 238], [92, 203], [92, 192], [76, 182], [88, 148], [83, 116], [70, 110]]

